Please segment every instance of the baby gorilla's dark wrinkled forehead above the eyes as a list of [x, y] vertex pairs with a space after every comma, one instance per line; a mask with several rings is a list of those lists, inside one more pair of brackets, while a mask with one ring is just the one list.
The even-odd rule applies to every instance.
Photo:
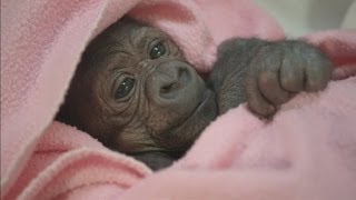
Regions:
[[87, 47], [82, 60], [92, 63], [93, 69], [98, 69], [98, 64], [108, 63], [111, 63], [111, 68], [126, 68], [127, 64], [132, 64], [132, 68], [134, 63], [148, 59], [149, 47], [157, 40], [169, 39], [158, 29], [125, 19], [95, 38]]

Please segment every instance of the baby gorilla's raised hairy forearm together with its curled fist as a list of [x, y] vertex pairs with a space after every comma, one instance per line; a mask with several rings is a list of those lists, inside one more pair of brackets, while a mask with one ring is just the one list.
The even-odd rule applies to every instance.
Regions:
[[208, 86], [220, 114], [247, 101], [254, 113], [268, 118], [295, 93], [324, 89], [330, 73], [326, 56], [303, 41], [230, 39], [219, 46]]

